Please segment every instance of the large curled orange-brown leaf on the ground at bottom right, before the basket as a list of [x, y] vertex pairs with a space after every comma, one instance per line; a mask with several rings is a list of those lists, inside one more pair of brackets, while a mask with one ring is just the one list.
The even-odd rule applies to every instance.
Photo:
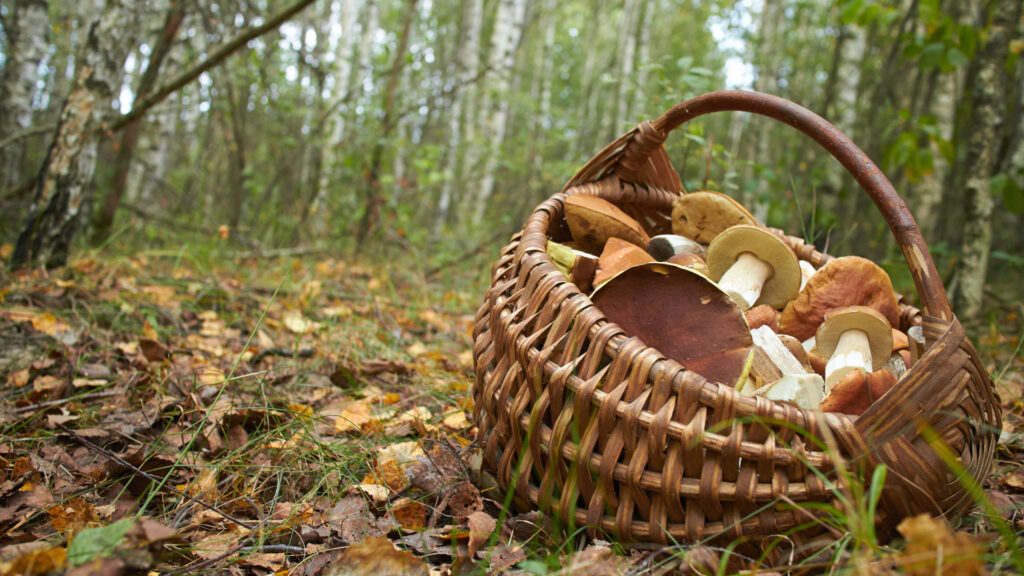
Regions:
[[928, 515], [904, 519], [896, 527], [906, 538], [900, 559], [904, 574], [973, 576], [985, 573], [985, 547], [966, 532], [953, 532], [944, 520]]

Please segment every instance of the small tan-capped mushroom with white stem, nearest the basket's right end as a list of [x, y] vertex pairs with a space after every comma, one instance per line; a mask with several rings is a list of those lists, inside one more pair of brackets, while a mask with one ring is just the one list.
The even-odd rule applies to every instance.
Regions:
[[825, 364], [825, 393], [854, 371], [873, 372], [889, 360], [892, 328], [886, 317], [868, 306], [830, 311], [814, 336]]

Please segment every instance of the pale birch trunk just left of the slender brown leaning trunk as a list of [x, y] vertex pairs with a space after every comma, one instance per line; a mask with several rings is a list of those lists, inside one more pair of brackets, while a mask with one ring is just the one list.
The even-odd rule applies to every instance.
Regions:
[[[341, 29], [341, 38], [337, 46], [333, 46], [335, 57], [334, 67], [334, 89], [332, 98], [328, 105], [328, 126], [329, 135], [324, 147], [324, 159], [321, 168], [319, 179], [316, 183], [316, 196], [313, 198], [312, 231], [314, 238], [323, 238], [327, 231], [328, 222], [328, 194], [332, 190], [334, 176], [340, 165], [341, 143], [345, 139], [345, 117], [347, 111], [344, 110], [349, 95], [353, 90], [351, 83], [352, 58], [355, 55], [355, 29], [356, 5], [355, 0], [341, 0], [338, 10], [332, 10], [331, 29], [336, 27]], [[332, 34], [333, 36], [333, 34]]]

